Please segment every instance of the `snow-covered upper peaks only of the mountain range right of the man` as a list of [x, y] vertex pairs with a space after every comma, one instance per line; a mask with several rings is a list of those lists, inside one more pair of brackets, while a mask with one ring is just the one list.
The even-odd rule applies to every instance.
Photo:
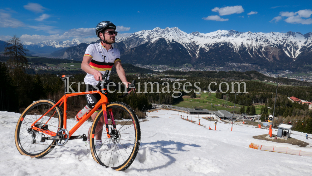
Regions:
[[[227, 43], [235, 52], [247, 49], [251, 57], [260, 56], [267, 60], [269, 59], [263, 53], [265, 49], [282, 47], [282, 51], [295, 61], [295, 58], [302, 52], [300, 51], [302, 47], [311, 47], [312, 45], [312, 33], [302, 35], [300, 32], [253, 33], [218, 30], [207, 34], [202, 34], [200, 32], [188, 34], [177, 27], [167, 27], [165, 29], [157, 27], [153, 30], [143, 30], [135, 32], [128, 37], [117, 39], [117, 42], [124, 42], [127, 50], [147, 42], [153, 43], [160, 38], [165, 39], [167, 44], [173, 41], [180, 43], [190, 52], [190, 56], [192, 57], [193, 54], [198, 57], [201, 49], [205, 52], [209, 52], [209, 49], [214, 45]], [[260, 49], [259, 53], [255, 51], [258, 49]], [[272, 54], [272, 52], [273, 51], [271, 51], [270, 54]]]

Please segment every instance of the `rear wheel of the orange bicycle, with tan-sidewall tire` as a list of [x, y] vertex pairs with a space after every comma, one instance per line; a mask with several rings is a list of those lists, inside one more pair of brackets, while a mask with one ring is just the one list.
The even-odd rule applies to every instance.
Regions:
[[[15, 129], [15, 144], [16, 144], [17, 150], [22, 155], [27, 155], [32, 158], [41, 158], [41, 157], [44, 157], [46, 154], [50, 153], [51, 150], [55, 147], [56, 145], [55, 140], [46, 140], [45, 142], [39, 141], [41, 139], [40, 135], [43, 133], [38, 132], [36, 130], [32, 130], [33, 133], [27, 131], [28, 129], [31, 128], [30, 125], [34, 121], [36, 121], [38, 118], [40, 118], [41, 115], [45, 114], [53, 105], [55, 105], [55, 102], [53, 100], [43, 99], [43, 100], [34, 101], [31, 105], [29, 105], [24, 110], [24, 112], [18, 119], [16, 129]], [[36, 110], [36, 107], [37, 107], [37, 110]], [[50, 130], [56, 133], [58, 130], [60, 130], [60, 128], [63, 127], [63, 119], [62, 119], [63, 115], [62, 115], [62, 111], [60, 107], [56, 106], [47, 115], [49, 116], [51, 115], [51, 116], [42, 117], [41, 120], [39, 120], [36, 124], [38, 128], [44, 128], [45, 130]], [[49, 119], [47, 120], [48, 117]], [[47, 120], [48, 126], [46, 127], [41, 126], [46, 123], [45, 122], [46, 120]], [[58, 126], [58, 127], [49, 126], [51, 124], [53, 126]], [[35, 137], [32, 137], [32, 134], [35, 135]], [[29, 135], [30, 137], [28, 138]], [[44, 134], [44, 135], [46, 137], [49, 136], [47, 134]], [[35, 143], [33, 143], [34, 141]], [[33, 144], [35, 144], [35, 147], [32, 147]], [[29, 150], [28, 150], [28, 147], [29, 147]], [[31, 152], [32, 150], [33, 152]]]

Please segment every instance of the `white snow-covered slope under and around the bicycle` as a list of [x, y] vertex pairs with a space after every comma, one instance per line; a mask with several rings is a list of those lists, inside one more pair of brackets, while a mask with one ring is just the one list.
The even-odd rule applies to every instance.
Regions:
[[[0, 175], [312, 175], [312, 157], [260, 151], [249, 148], [251, 142], [263, 145], [288, 146], [284, 143], [253, 139], [268, 130], [249, 126], [217, 123], [217, 130], [208, 130], [209, 120], [201, 125], [180, 119], [176, 111], [158, 110], [142, 121], [141, 146], [133, 164], [124, 172], [104, 168], [85, 150], [81, 139], [55, 147], [41, 159], [21, 155], [15, 146], [14, 130], [20, 114], [0, 111]], [[182, 113], [183, 115], [183, 113]], [[193, 115], [197, 121], [198, 115]], [[186, 117], [186, 115], [185, 115]], [[190, 119], [189, 115], [189, 119]], [[67, 120], [69, 129], [76, 124]], [[214, 120], [211, 127], [214, 129]], [[87, 132], [86, 122], [75, 135]], [[277, 131], [275, 131], [276, 134]], [[292, 131], [291, 137], [311, 144], [303, 133]]]

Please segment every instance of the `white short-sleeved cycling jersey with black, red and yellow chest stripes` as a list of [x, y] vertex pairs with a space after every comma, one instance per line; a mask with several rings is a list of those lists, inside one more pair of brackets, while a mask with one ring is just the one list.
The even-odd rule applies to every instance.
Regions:
[[[100, 71], [102, 74], [105, 73], [106, 70], [111, 72], [112, 67], [116, 61], [120, 61], [120, 52], [117, 48], [111, 47], [108, 51], [105, 46], [101, 43], [90, 44], [85, 50], [84, 56], [92, 57], [90, 62], [90, 66], [97, 71]], [[110, 74], [109, 72], [109, 74]], [[107, 79], [110, 77], [108, 76]], [[85, 84], [97, 85], [99, 81], [94, 79], [94, 76], [87, 73], [85, 76]]]

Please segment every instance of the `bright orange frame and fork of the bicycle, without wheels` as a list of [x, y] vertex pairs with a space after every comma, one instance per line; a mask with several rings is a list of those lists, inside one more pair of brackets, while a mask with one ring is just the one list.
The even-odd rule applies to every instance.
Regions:
[[[107, 119], [107, 112], [106, 112], [106, 105], [109, 103], [108, 101], [108, 98], [103, 94], [101, 93], [100, 91], [107, 91], [106, 88], [102, 89], [102, 90], [96, 90], [96, 91], [87, 91], [87, 92], [78, 92], [78, 93], [71, 93], [71, 94], [66, 94], [64, 96], [62, 96], [62, 98], [56, 102], [56, 104], [54, 106], [52, 106], [44, 115], [42, 115], [38, 120], [36, 120], [32, 125], [32, 129], [36, 130], [36, 131], [39, 131], [39, 132], [42, 132], [42, 133], [45, 133], [45, 134], [48, 134], [48, 135], [51, 135], [51, 136], [56, 136], [56, 132], [52, 132], [52, 131], [48, 131], [48, 130], [43, 130], [43, 129], [40, 129], [40, 128], [37, 128], [35, 126], [35, 124], [43, 117], [45, 116], [48, 112], [50, 112], [53, 108], [55, 108], [57, 105], [61, 106], [63, 103], [64, 103], [64, 111], [63, 111], [63, 128], [64, 129], [67, 129], [67, 115], [66, 115], [66, 112], [67, 112], [67, 99], [69, 97], [72, 97], [72, 96], [77, 96], [77, 95], [85, 95], [85, 94], [95, 94], [95, 93], [98, 93], [101, 95], [101, 99], [99, 100], [99, 102], [97, 102], [95, 104], [95, 106], [91, 109], [91, 111], [89, 113], [86, 113], [84, 116], [82, 116], [82, 119], [79, 120], [79, 122], [69, 131], [69, 137], [70, 138], [76, 130], [78, 130], [78, 128], [83, 124], [85, 123], [85, 121], [87, 119], [90, 118], [90, 116], [98, 109], [100, 108], [100, 106], [102, 106], [102, 109], [103, 109], [103, 115], [104, 115], [104, 120], [105, 120], [105, 124], [106, 124], [106, 133], [107, 133], [107, 137], [110, 138], [110, 134], [109, 134], [109, 128], [108, 128], [108, 119]], [[112, 110], [109, 110], [110, 112], [110, 120], [111, 122], [113, 123], [113, 127], [116, 128], [116, 125], [115, 125], [115, 120], [114, 120], [114, 117], [113, 117], [113, 113], [112, 113]], [[53, 113], [53, 115], [55, 114], [55, 112]], [[51, 115], [51, 117], [53, 116]], [[48, 121], [46, 121], [45, 124], [47, 124], [49, 122], [49, 120], [51, 119], [51, 117], [48, 119]], [[67, 138], [67, 136], [65, 136]], [[90, 136], [91, 138], [94, 138], [94, 134], [92, 136]]]

